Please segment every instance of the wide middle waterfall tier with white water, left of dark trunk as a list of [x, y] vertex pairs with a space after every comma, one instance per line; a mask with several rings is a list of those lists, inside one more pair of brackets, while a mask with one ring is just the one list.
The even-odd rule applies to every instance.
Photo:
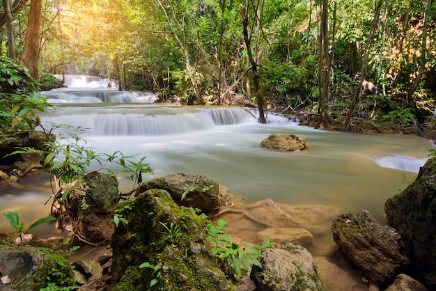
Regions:
[[240, 107], [72, 107], [41, 116], [42, 126], [49, 123], [88, 128], [90, 135], [127, 136], [180, 134], [210, 129], [219, 125], [256, 122]]

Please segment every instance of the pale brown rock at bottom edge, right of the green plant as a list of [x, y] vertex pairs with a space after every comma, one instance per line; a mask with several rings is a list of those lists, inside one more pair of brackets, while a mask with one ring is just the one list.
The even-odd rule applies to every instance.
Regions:
[[264, 249], [261, 255], [262, 267], [253, 266], [250, 274], [258, 290], [326, 290], [304, 247], [288, 243], [281, 249]]

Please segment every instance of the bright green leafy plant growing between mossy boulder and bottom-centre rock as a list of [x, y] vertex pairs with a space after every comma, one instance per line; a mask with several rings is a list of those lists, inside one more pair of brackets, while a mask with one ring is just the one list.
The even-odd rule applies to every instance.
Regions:
[[[245, 243], [241, 247], [235, 242], [230, 242], [231, 235], [224, 233], [226, 230], [226, 221], [224, 219], [219, 219], [217, 225], [208, 224], [208, 240], [212, 242], [212, 255], [218, 259], [223, 259], [229, 271], [232, 274], [238, 276], [247, 275], [251, 263], [256, 266], [260, 266], [258, 260], [259, 251], [256, 247], [251, 246], [251, 244]], [[250, 251], [249, 253], [245, 250]], [[218, 260], [215, 261], [218, 265]], [[241, 263], [244, 267], [241, 267]]]

